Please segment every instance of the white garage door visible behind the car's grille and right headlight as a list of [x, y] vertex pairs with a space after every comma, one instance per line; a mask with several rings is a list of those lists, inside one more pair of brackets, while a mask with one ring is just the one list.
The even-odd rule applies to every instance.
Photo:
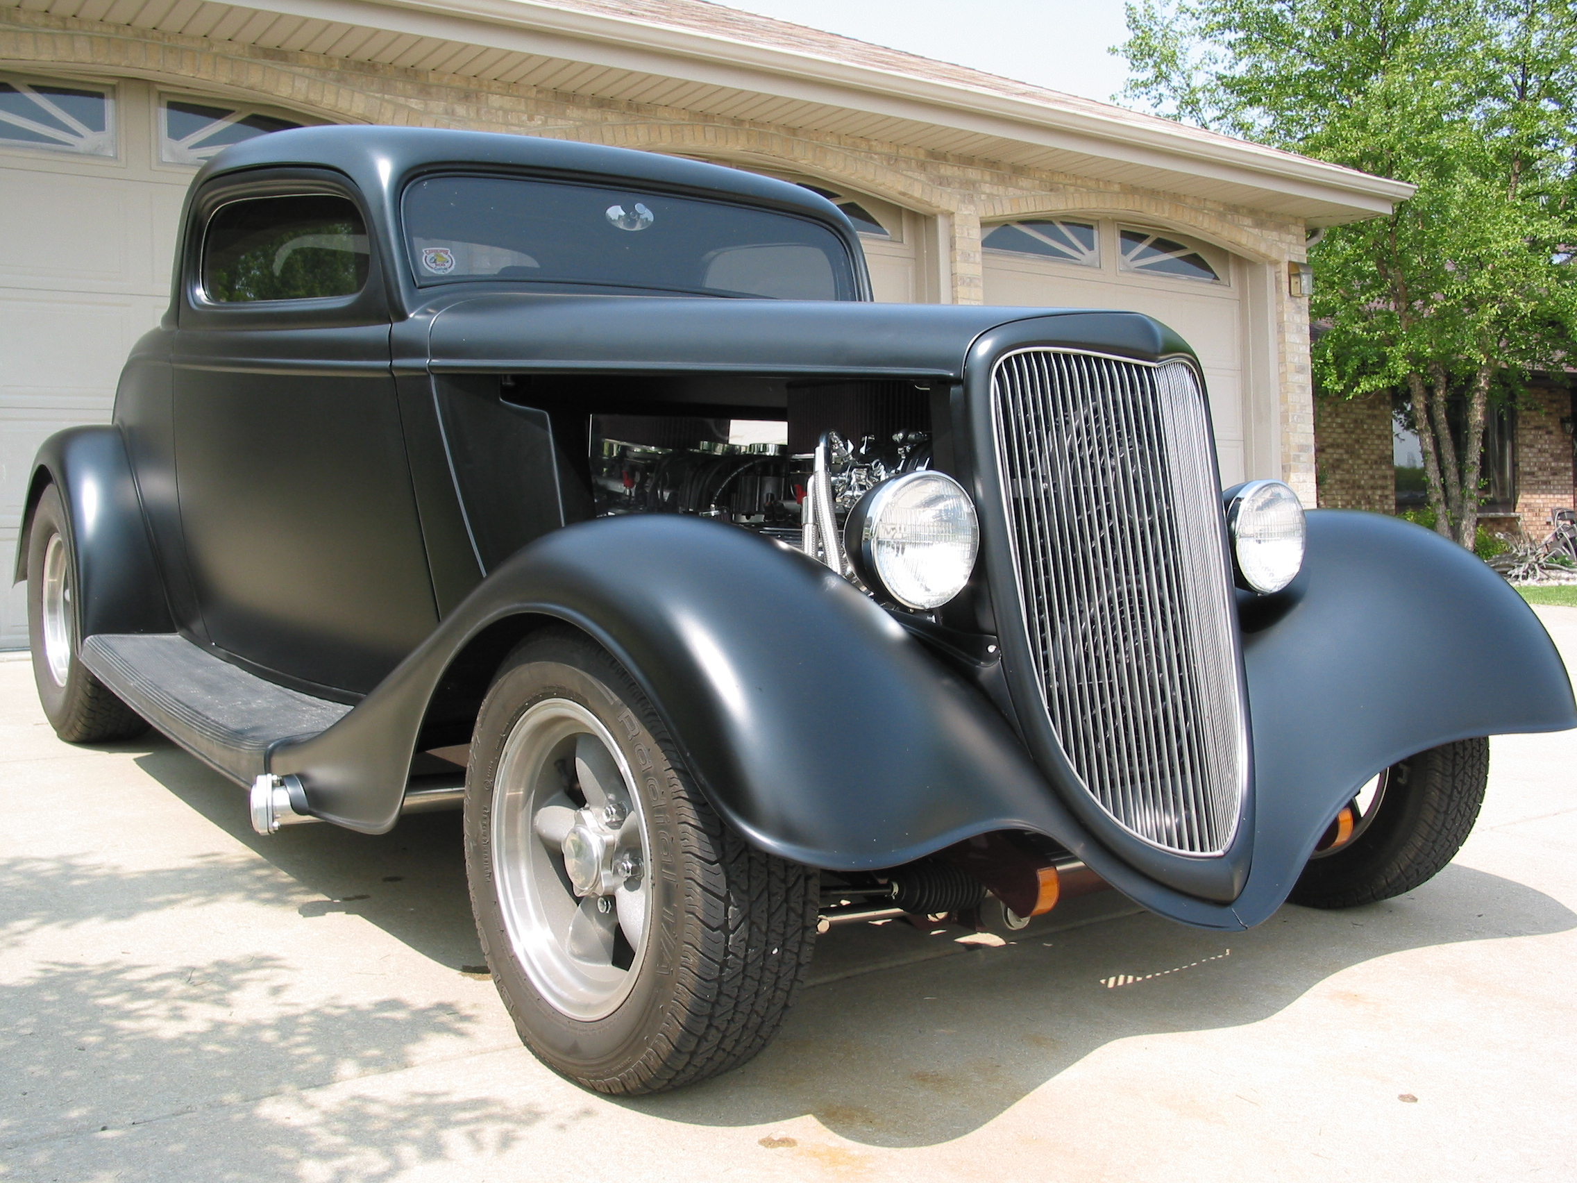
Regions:
[[1233, 259], [1170, 230], [1107, 219], [986, 227], [987, 304], [1115, 308], [1173, 328], [1205, 368], [1221, 478], [1244, 480], [1243, 278]]

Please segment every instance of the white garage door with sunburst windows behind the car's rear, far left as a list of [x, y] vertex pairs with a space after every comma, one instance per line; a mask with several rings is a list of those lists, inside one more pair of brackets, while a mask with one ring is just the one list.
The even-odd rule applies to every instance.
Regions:
[[[295, 126], [148, 82], [0, 74], [0, 554], [38, 445], [106, 423], [131, 345], [169, 304], [186, 185], [226, 144]], [[9, 580], [8, 580], [9, 582]], [[21, 587], [0, 648], [27, 645]]]

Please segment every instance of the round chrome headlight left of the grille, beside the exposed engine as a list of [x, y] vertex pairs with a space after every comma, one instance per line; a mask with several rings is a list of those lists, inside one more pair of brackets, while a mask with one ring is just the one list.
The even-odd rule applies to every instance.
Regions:
[[844, 527], [855, 574], [905, 607], [941, 607], [970, 582], [981, 532], [975, 503], [946, 473], [912, 472], [859, 498]]

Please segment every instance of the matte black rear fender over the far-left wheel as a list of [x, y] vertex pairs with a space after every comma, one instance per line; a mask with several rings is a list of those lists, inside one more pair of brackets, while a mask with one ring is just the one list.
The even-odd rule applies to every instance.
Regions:
[[38, 450], [17, 535], [14, 579], [27, 579], [33, 509], [54, 484], [66, 506], [66, 539], [76, 557], [77, 612], [84, 637], [95, 633], [172, 633], [164, 582], [142, 502], [114, 426], [68, 427]]

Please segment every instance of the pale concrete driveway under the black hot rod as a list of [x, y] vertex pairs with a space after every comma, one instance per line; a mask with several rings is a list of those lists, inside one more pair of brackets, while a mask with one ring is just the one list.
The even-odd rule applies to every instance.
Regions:
[[[1577, 609], [1541, 609], [1577, 669]], [[757, 1062], [639, 1101], [516, 1039], [453, 815], [252, 834], [0, 659], [0, 1180], [1577, 1178], [1577, 733], [1493, 745], [1424, 888], [1233, 935], [1113, 896], [858, 924]]]

